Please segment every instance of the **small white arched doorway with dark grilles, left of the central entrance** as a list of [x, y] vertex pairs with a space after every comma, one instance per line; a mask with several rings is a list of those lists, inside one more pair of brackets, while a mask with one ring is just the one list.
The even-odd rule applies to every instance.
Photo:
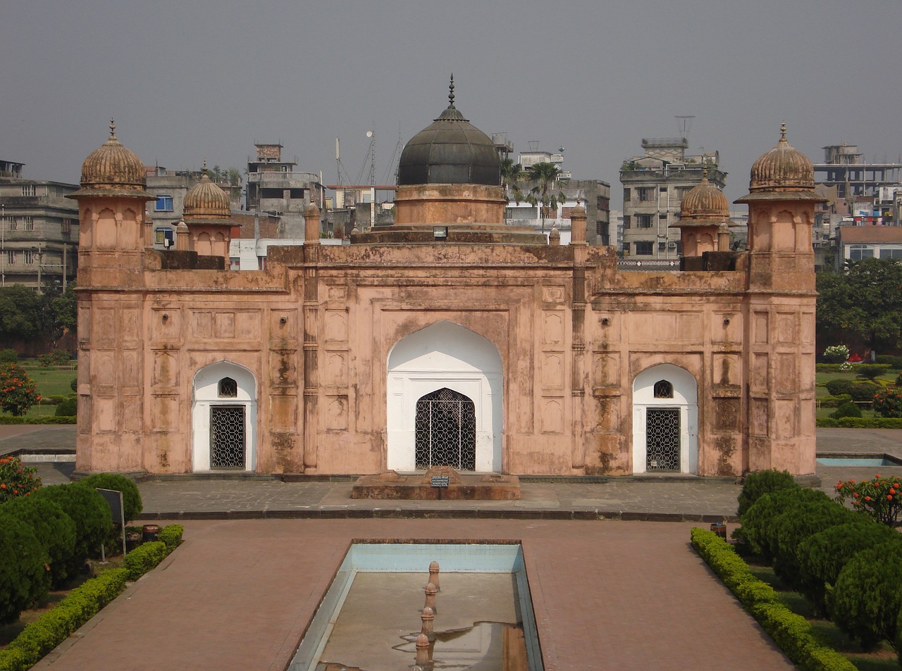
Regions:
[[220, 361], [194, 376], [191, 462], [194, 471], [256, 467], [256, 380], [247, 368]]

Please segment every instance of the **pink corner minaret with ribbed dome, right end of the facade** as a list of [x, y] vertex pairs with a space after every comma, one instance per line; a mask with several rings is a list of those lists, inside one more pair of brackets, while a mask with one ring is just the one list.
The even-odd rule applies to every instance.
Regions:
[[751, 168], [745, 340], [748, 470], [815, 472], [815, 171], [780, 127]]

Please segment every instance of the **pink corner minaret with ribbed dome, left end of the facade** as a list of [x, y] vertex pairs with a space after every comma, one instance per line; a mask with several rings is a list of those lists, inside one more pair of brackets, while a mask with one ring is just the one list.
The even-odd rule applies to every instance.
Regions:
[[[78, 201], [79, 472], [143, 470], [141, 159], [109, 138], [85, 159]], [[110, 465], [113, 465], [111, 467]]]

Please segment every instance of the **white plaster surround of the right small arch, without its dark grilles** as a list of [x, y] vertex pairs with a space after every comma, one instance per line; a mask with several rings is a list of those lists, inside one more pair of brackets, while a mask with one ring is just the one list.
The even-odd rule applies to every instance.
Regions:
[[[655, 383], [673, 385], [669, 398], [655, 398]], [[658, 364], [643, 370], [632, 383], [632, 471], [646, 472], [646, 417], [649, 409], [675, 409], [680, 420], [680, 473], [698, 472], [698, 384], [685, 368]]]

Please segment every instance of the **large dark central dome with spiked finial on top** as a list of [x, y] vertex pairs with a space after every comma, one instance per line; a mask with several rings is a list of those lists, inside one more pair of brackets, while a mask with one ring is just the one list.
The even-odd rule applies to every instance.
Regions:
[[454, 77], [447, 109], [414, 135], [401, 152], [398, 185], [501, 184], [492, 140], [454, 106]]

